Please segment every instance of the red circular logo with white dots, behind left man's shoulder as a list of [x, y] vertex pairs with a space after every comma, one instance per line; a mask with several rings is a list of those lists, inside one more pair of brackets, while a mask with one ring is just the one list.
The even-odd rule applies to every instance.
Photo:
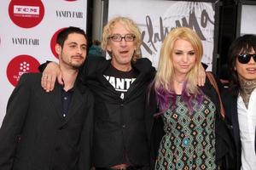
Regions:
[[18, 55], [9, 62], [7, 66], [7, 77], [9, 82], [16, 86], [20, 76], [25, 72], [38, 72], [40, 63], [30, 55]]

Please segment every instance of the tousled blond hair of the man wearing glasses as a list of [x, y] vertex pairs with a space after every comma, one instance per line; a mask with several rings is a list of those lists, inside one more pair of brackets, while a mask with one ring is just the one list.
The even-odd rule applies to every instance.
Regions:
[[113, 18], [112, 20], [108, 21], [108, 24], [106, 26], [104, 26], [103, 33], [102, 33], [102, 49], [105, 51], [108, 51], [107, 49], [108, 40], [109, 40], [109, 37], [112, 36], [113, 28], [116, 23], [122, 24], [123, 26], [125, 26], [125, 29], [127, 31], [131, 31], [131, 34], [135, 35], [136, 38], [134, 43], [136, 45], [137, 50], [134, 52], [131, 60], [133, 62], [136, 62], [137, 59], [141, 58], [140, 46], [142, 44], [142, 34], [137, 24], [133, 20], [127, 17], [119, 16], [119, 17]]

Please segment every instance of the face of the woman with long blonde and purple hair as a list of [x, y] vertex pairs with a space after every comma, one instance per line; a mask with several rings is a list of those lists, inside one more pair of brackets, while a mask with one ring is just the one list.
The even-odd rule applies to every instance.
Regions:
[[172, 51], [175, 77], [186, 77], [195, 65], [195, 61], [195, 49], [192, 47], [191, 43], [183, 39], [176, 40]]

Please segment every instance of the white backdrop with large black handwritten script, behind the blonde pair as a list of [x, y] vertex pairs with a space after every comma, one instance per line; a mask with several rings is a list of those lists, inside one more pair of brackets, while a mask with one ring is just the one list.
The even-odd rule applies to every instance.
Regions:
[[143, 57], [158, 65], [160, 45], [172, 28], [188, 26], [201, 37], [204, 46], [202, 61], [212, 71], [214, 14], [212, 3], [165, 0], [108, 0], [108, 20], [129, 16], [143, 32]]

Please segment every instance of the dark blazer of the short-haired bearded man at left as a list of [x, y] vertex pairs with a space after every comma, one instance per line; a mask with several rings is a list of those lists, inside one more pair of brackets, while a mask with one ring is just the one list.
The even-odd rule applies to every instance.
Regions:
[[93, 104], [76, 81], [67, 117], [61, 113], [61, 86], [41, 88], [41, 74], [20, 77], [0, 129], [0, 170], [89, 170]]

